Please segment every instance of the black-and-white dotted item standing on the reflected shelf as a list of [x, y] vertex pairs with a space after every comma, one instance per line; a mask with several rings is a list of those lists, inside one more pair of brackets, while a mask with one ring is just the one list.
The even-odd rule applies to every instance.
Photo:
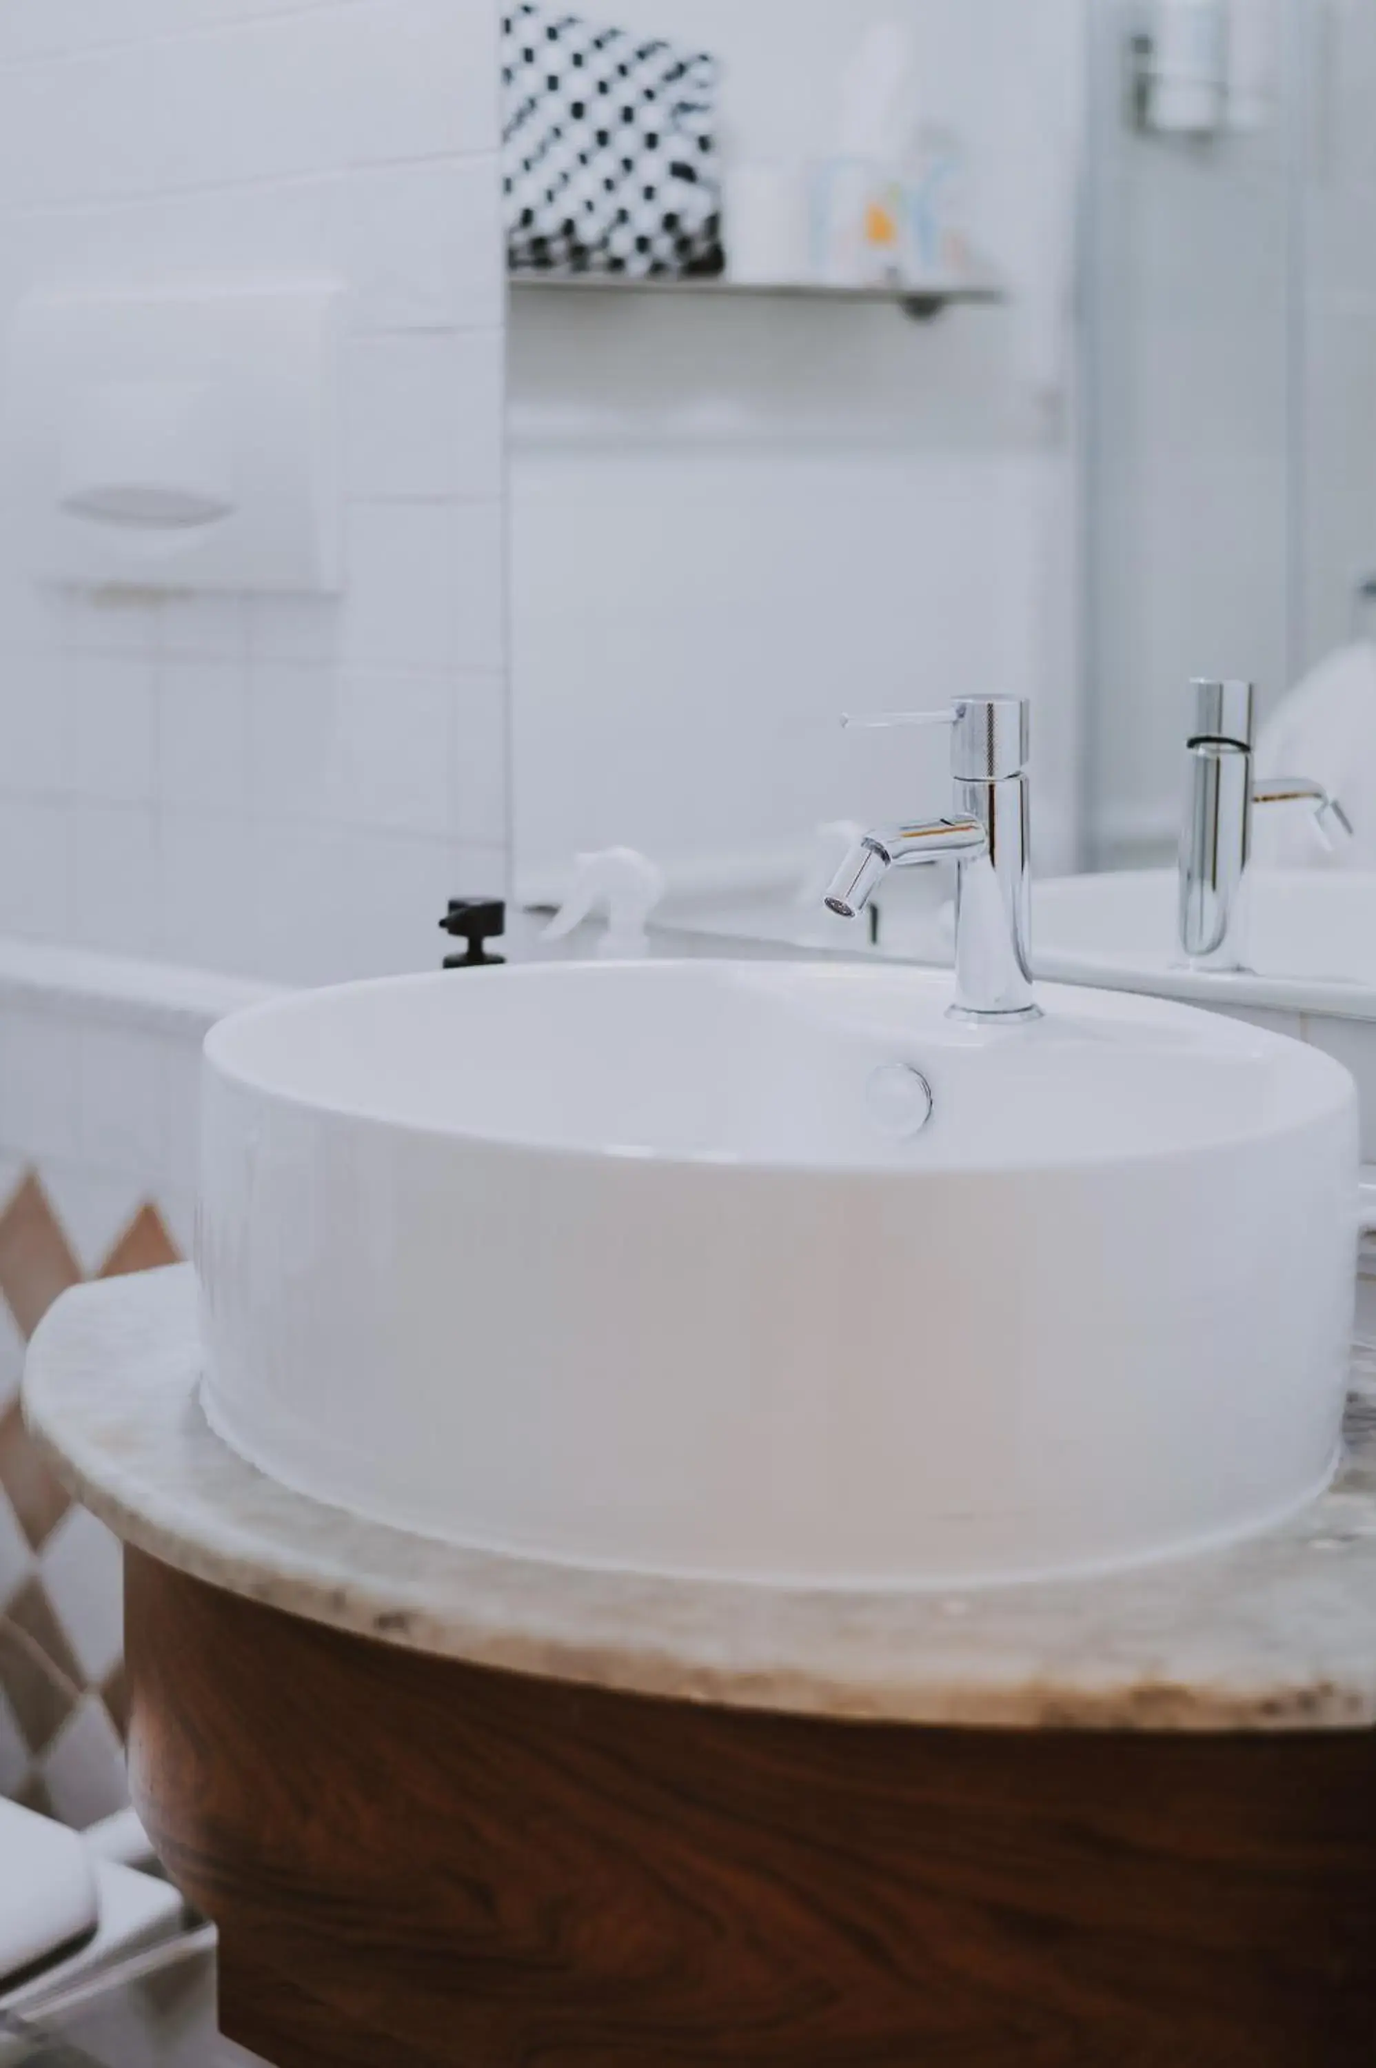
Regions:
[[716, 58], [540, 0], [503, 23], [517, 273], [720, 273]]

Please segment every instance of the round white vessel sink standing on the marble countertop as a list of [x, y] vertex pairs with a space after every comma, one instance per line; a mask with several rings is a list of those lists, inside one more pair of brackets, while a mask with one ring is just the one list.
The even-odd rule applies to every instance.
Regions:
[[948, 999], [565, 964], [221, 1024], [213, 1425], [368, 1518], [648, 1574], [962, 1586], [1299, 1508], [1339, 1452], [1351, 1079], [1169, 1003]]

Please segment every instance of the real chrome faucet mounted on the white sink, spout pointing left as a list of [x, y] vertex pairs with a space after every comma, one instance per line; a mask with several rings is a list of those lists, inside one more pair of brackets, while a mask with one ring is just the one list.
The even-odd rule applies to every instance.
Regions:
[[867, 833], [826, 904], [859, 918], [890, 869], [956, 862], [956, 1003], [952, 1020], [1008, 1026], [1041, 1020], [1030, 974], [1030, 709], [1014, 697], [968, 697], [950, 711], [846, 718], [846, 726], [952, 726], [950, 819]]

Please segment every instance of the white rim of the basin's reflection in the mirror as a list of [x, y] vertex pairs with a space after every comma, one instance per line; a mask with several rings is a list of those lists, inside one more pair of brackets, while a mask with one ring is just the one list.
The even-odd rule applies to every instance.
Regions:
[[[1306, 883], [1351, 881], [1351, 877], [1328, 877], [1316, 871], [1262, 871], [1262, 885], [1268, 875]], [[1370, 873], [1368, 881], [1376, 898], [1376, 873]], [[1132, 869], [1105, 875], [1047, 877], [1037, 883], [1033, 893], [1035, 920], [1037, 906], [1041, 904], [1045, 910], [1049, 898], [1088, 898], [1093, 893], [1084, 885], [1105, 883], [1119, 883], [1134, 889], [1142, 889], [1144, 885], [1171, 887], [1175, 871]], [[1364, 978], [1190, 970], [1165, 960], [1146, 964], [1142, 957], [1134, 957], [1130, 949], [1107, 955], [1093, 949], [1047, 947], [1045, 920], [1041, 926], [1035, 924], [1033, 966], [1037, 978], [1045, 978], [1051, 984], [1132, 991], [1136, 997], [1173, 999], [1179, 1005], [1206, 1005], [1215, 1011], [1235, 1007], [1237, 1011], [1316, 1013], [1328, 1020], [1376, 1020], [1376, 984]]]

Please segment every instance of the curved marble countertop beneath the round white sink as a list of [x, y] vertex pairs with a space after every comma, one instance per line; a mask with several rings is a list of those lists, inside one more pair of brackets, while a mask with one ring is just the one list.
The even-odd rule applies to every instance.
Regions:
[[1376, 1359], [1337, 1487], [1268, 1537], [1099, 1580], [842, 1594], [581, 1572], [360, 1522], [209, 1429], [188, 1268], [81, 1286], [35, 1336], [31, 1429], [122, 1539], [385, 1644], [648, 1696], [921, 1725], [1376, 1727]]

